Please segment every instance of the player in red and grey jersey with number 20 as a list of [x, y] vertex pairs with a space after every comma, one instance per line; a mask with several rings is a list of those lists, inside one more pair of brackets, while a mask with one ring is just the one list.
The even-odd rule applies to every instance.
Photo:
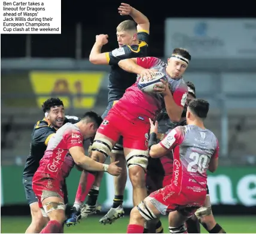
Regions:
[[169, 213], [170, 233], [187, 233], [184, 222], [206, 198], [208, 169], [218, 167], [218, 140], [203, 125], [209, 103], [194, 99], [188, 104], [187, 126], [179, 126], [157, 144], [157, 122], [151, 121], [150, 156], [159, 158], [173, 150], [173, 177], [163, 189], [153, 192], [130, 213], [127, 233], [143, 233], [146, 220]]

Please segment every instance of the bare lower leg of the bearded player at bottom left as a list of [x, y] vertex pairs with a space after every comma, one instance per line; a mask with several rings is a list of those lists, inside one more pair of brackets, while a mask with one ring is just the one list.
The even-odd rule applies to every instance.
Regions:
[[30, 205], [32, 221], [25, 233], [39, 233], [48, 222], [48, 217], [42, 215], [41, 209], [38, 207], [38, 202], [33, 202]]

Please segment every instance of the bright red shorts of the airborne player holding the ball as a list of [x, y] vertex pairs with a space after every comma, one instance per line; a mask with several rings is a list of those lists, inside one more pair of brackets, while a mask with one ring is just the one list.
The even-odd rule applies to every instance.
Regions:
[[117, 142], [123, 136], [123, 147], [148, 150], [148, 121], [135, 118], [131, 121], [113, 111], [109, 111], [97, 132]]

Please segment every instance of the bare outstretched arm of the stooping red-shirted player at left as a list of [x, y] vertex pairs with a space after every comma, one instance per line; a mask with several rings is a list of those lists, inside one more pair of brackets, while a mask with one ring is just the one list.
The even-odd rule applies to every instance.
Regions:
[[110, 165], [100, 164], [99, 162], [94, 161], [93, 159], [84, 155], [84, 148], [80, 146], [73, 146], [69, 148], [69, 152], [71, 153], [72, 158], [75, 161], [75, 164], [78, 167], [83, 168], [87, 171], [106, 171], [111, 175], [118, 176], [120, 175], [122, 168], [117, 167], [117, 162], [114, 162]]

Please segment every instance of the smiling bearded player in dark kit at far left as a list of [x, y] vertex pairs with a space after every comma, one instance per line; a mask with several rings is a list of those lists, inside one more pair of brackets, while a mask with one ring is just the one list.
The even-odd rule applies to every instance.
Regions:
[[[26, 159], [25, 169], [23, 171], [23, 185], [25, 188], [26, 199], [31, 208], [32, 222], [26, 233], [39, 233], [47, 223], [47, 215], [43, 217], [38, 200], [32, 189], [32, 178], [39, 161], [47, 148], [48, 141], [56, 131], [67, 122], [75, 124], [80, 121], [77, 116], [65, 116], [63, 102], [59, 98], [49, 98], [42, 104], [42, 110], [45, 118], [36, 122], [31, 135], [31, 146], [29, 156]], [[66, 184], [62, 187], [65, 193], [65, 204], [68, 203]]]

